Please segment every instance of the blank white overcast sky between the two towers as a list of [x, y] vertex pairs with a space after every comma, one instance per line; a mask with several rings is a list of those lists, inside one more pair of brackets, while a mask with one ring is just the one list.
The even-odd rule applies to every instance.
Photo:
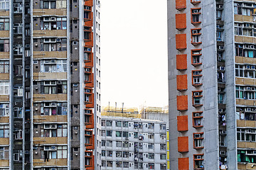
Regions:
[[101, 1], [102, 106], [168, 104], [166, 0]]

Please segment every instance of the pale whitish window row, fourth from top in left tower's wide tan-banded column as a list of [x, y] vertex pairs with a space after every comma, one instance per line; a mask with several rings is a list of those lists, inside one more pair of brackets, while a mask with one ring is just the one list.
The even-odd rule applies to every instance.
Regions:
[[67, 60], [41, 60], [41, 72], [67, 72]]

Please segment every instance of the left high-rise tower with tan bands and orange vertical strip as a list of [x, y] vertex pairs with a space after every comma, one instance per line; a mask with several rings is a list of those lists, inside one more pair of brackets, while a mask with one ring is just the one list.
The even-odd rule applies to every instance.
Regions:
[[100, 1], [0, 2], [0, 169], [100, 169]]

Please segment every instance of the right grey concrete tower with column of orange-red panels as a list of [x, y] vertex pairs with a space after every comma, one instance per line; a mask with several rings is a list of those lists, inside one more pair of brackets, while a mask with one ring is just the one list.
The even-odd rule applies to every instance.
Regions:
[[168, 1], [171, 169], [255, 169], [256, 1]]

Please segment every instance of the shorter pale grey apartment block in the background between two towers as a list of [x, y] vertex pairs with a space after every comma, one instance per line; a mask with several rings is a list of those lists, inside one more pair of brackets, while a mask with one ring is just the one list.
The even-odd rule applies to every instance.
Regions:
[[166, 123], [102, 116], [102, 169], [166, 169]]

